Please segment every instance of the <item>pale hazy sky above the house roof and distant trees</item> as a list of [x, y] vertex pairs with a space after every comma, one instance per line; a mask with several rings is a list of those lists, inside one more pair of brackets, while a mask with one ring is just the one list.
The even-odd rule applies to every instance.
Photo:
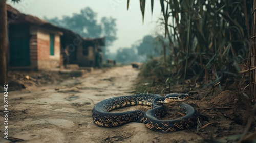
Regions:
[[96, 12], [98, 21], [101, 17], [116, 18], [118, 39], [109, 47], [115, 52], [120, 47], [131, 47], [131, 45], [148, 34], [154, 34], [156, 21], [160, 17], [159, 0], [154, 3], [153, 15], [151, 15], [151, 1], [146, 1], [144, 24], [139, 6], [139, 0], [130, 1], [129, 10], [126, 10], [127, 0], [22, 0], [18, 4], [7, 1], [8, 4], [20, 12], [30, 14], [39, 18], [59, 17], [62, 15], [72, 16], [80, 13], [85, 7], [90, 7]]

